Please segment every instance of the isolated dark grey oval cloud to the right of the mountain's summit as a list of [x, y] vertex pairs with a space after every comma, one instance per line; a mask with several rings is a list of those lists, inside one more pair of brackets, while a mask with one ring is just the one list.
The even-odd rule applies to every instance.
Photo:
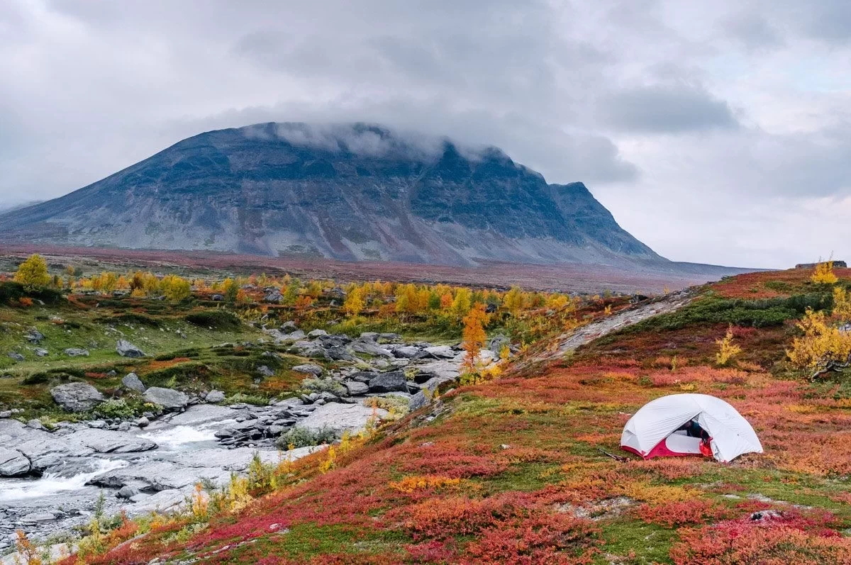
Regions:
[[630, 88], [604, 99], [602, 106], [603, 119], [627, 132], [681, 134], [738, 126], [727, 102], [688, 85]]

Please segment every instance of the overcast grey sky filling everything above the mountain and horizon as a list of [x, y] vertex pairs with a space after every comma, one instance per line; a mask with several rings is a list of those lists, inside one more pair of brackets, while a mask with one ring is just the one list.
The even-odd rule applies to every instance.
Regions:
[[0, 3], [0, 207], [272, 120], [500, 146], [673, 260], [851, 260], [848, 0]]

